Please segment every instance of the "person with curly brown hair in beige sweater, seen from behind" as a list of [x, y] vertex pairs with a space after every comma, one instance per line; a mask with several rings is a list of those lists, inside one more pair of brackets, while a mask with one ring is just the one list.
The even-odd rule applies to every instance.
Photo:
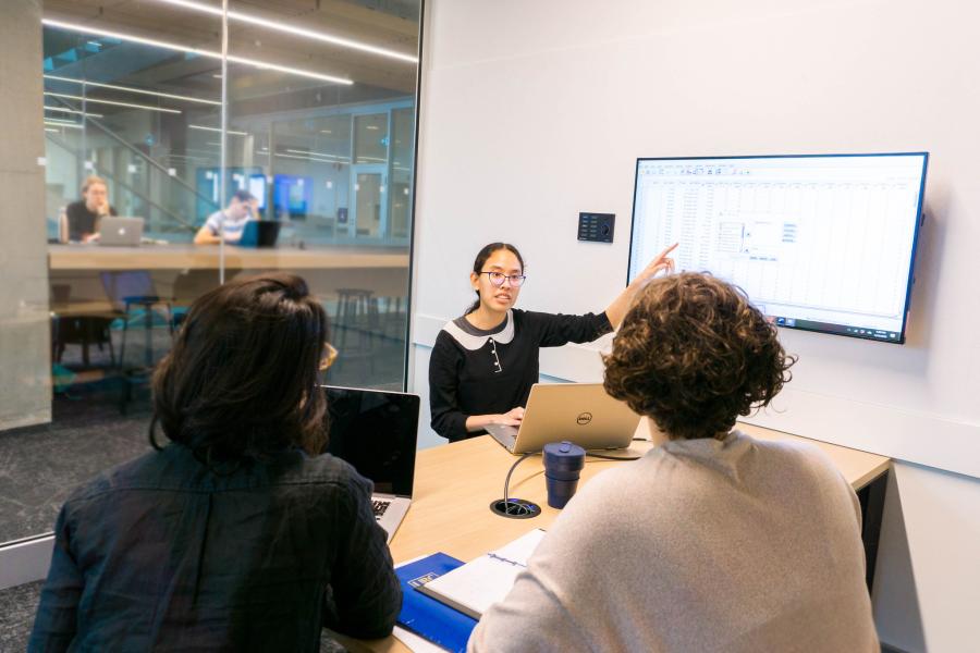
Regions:
[[854, 490], [817, 447], [734, 429], [795, 361], [734, 286], [650, 283], [604, 384], [654, 447], [572, 498], [469, 651], [879, 651]]

